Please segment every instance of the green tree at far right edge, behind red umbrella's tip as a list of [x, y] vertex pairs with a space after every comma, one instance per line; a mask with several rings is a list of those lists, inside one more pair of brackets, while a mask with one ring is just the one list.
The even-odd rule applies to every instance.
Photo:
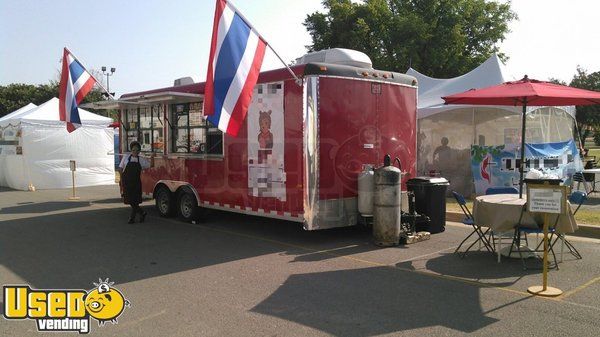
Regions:
[[[570, 86], [600, 91], [600, 71], [588, 74], [585, 69], [577, 67], [577, 74], [573, 76]], [[600, 134], [600, 105], [578, 106], [577, 124], [579, 125], [580, 139], [584, 141], [592, 130], [595, 134]], [[600, 143], [600, 136], [597, 138]]]

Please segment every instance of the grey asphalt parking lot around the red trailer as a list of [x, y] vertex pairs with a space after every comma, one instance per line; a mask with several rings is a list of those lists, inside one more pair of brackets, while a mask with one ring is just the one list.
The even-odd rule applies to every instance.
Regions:
[[[457, 223], [378, 248], [364, 228], [308, 232], [224, 212], [189, 224], [151, 202], [130, 225], [116, 185], [70, 194], [0, 190], [0, 283], [90, 290], [110, 278], [131, 306], [118, 324], [92, 319], [93, 336], [598, 335], [597, 239], [569, 237], [583, 259], [565, 253], [548, 274], [564, 293], [546, 298], [527, 292], [542, 275], [519, 259], [454, 254], [469, 233]], [[0, 335], [62, 334], [0, 318]]]

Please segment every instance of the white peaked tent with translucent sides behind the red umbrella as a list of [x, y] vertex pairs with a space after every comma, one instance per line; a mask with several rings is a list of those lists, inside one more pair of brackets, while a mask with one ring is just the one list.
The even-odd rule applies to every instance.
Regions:
[[[442, 97], [517, 78], [509, 75], [495, 54], [477, 68], [455, 78], [432, 78], [412, 68], [407, 74], [418, 81], [418, 174], [435, 171], [450, 181], [449, 190], [471, 195], [471, 145], [520, 143], [522, 107], [444, 105]], [[573, 138], [574, 107], [528, 107], [527, 118], [528, 143]], [[442, 146], [446, 141], [447, 146]], [[440, 156], [440, 152], [444, 152], [444, 156]]]

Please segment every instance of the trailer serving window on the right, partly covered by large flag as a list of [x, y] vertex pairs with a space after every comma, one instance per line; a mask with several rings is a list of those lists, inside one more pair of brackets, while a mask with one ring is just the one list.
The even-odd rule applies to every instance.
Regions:
[[223, 155], [223, 133], [202, 116], [202, 102], [171, 106], [171, 151]]

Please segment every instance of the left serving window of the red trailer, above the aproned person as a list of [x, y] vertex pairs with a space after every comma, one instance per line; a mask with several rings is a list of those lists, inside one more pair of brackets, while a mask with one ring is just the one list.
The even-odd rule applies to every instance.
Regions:
[[160, 104], [130, 108], [125, 110], [126, 134], [125, 148], [137, 140], [142, 145], [142, 152], [162, 152], [163, 139], [163, 106]]

